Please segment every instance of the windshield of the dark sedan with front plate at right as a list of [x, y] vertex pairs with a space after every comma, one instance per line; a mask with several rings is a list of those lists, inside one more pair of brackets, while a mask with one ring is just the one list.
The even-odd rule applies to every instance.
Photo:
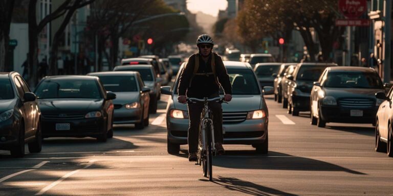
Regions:
[[373, 72], [330, 72], [323, 84], [330, 88], [383, 88], [381, 79]]

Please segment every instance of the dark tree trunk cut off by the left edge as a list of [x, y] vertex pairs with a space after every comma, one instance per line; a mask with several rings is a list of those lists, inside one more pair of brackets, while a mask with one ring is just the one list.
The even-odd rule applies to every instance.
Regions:
[[6, 64], [10, 58], [7, 52], [13, 10], [14, 0], [0, 1], [0, 71], [6, 70]]

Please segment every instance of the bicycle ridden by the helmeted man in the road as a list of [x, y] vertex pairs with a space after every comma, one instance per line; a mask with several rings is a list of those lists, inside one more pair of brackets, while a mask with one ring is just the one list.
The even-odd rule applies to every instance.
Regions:
[[195, 165], [202, 166], [203, 176], [212, 181], [212, 157], [215, 156], [214, 126], [211, 118], [212, 111], [209, 109], [209, 102], [226, 103], [223, 97], [208, 99], [187, 98], [188, 103], [203, 102], [201, 122], [199, 127], [198, 139], [198, 162]]

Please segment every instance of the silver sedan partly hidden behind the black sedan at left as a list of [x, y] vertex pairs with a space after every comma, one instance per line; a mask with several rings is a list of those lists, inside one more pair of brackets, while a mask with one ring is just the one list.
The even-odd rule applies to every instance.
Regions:
[[135, 124], [143, 129], [149, 125], [150, 88], [146, 87], [139, 72], [108, 71], [88, 74], [97, 76], [105, 90], [114, 92], [114, 124]]

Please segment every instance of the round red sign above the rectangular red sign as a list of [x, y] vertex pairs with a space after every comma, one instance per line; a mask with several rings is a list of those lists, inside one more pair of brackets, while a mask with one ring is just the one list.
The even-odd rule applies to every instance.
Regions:
[[338, 10], [347, 18], [358, 18], [367, 11], [366, 0], [339, 0]]

